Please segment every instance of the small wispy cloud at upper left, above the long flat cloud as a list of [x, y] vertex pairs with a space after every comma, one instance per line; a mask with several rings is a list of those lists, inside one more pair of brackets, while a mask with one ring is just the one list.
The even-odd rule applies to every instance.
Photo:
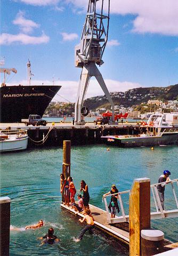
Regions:
[[24, 18], [25, 12], [19, 11], [15, 20], [13, 20], [14, 25], [18, 25], [23, 33], [31, 33], [34, 28], [38, 28], [39, 24], [32, 20], [27, 20]]

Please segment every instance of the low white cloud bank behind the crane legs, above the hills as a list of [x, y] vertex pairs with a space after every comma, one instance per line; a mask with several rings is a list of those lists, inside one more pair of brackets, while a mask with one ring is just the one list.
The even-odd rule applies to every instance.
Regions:
[[[132, 82], [119, 82], [111, 79], [104, 79], [109, 92], [125, 92], [129, 89], [137, 88], [137, 87], [143, 87], [139, 83], [132, 83]], [[20, 82], [14, 82], [11, 84], [23, 84], [27, 85], [27, 81], [20, 81]], [[43, 80], [31, 80], [31, 85], [52, 85], [52, 81], [43, 81]], [[75, 102], [77, 98], [77, 90], [78, 90], [78, 84], [77, 81], [55, 81], [55, 85], [61, 85], [61, 89], [59, 91], [59, 95], [61, 95], [63, 98], [67, 99], [70, 102]], [[62, 97], [59, 97], [59, 95], [56, 95], [54, 100], [55, 101], [65, 101]], [[86, 93], [87, 98], [91, 98], [98, 95], [104, 95], [100, 85], [96, 81], [96, 79], [91, 79], [90, 84], [88, 86], [88, 90]]]

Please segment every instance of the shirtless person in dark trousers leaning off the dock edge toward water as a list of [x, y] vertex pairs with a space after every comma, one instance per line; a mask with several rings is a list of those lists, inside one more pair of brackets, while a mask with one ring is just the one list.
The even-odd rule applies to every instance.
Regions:
[[76, 242], [79, 242], [80, 240], [82, 240], [85, 232], [88, 230], [89, 233], [92, 235], [93, 234], [93, 227], [94, 227], [94, 219], [91, 215], [91, 211], [86, 209], [86, 215], [85, 217], [82, 219], [79, 219], [79, 221], [81, 223], [84, 222], [84, 220], [86, 221], [87, 225], [80, 231], [80, 234], [78, 236], [78, 238], [76, 239]]

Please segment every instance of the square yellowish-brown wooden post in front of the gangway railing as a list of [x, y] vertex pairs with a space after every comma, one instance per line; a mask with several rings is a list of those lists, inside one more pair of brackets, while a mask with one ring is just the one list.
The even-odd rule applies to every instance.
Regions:
[[141, 230], [150, 228], [150, 179], [135, 179], [129, 198], [130, 256], [141, 255]]

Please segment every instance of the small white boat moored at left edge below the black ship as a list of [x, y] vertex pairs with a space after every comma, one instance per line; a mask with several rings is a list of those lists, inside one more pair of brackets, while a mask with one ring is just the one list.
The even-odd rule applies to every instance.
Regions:
[[25, 150], [28, 144], [27, 130], [1, 130], [0, 152]]

